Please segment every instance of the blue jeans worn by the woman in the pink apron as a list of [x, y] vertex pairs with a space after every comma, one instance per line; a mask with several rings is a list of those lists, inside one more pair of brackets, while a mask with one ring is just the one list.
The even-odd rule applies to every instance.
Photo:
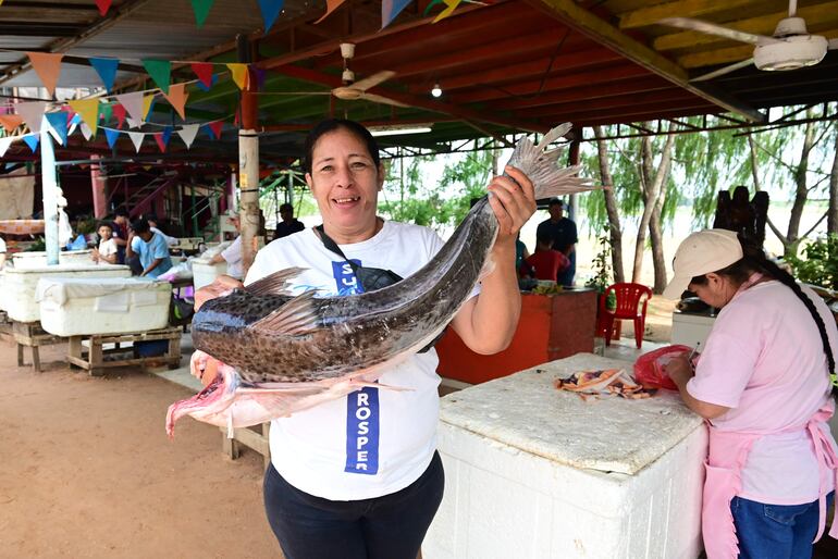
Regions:
[[[827, 496], [827, 511], [835, 492]], [[817, 501], [765, 505], [734, 497], [730, 501], [740, 559], [810, 559], [817, 534]], [[828, 526], [827, 526], [828, 529]], [[829, 537], [824, 533], [824, 537]]]

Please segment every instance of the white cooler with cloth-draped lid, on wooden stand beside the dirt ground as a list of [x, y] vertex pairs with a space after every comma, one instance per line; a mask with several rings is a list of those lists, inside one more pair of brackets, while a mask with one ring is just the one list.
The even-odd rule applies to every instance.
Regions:
[[169, 282], [133, 277], [45, 277], [35, 298], [41, 327], [57, 336], [127, 334], [169, 323]]

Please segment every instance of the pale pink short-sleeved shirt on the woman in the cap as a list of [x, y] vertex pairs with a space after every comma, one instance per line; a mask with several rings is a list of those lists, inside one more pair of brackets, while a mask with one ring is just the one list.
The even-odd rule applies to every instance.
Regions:
[[[811, 289], [803, 291], [815, 302], [838, 359], [831, 312]], [[830, 389], [817, 326], [794, 293], [776, 281], [756, 284], [725, 306], [687, 384], [693, 398], [731, 408], [712, 421], [716, 428], [765, 435], [751, 448], [739, 496], [772, 505], [817, 499], [817, 461], [803, 426], [830, 399]]]

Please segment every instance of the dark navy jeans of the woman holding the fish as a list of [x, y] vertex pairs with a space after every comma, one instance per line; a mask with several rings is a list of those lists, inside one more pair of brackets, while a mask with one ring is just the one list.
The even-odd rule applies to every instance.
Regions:
[[269, 465], [264, 510], [286, 559], [416, 559], [444, 485], [436, 452], [424, 473], [404, 489], [350, 501], [301, 492]]

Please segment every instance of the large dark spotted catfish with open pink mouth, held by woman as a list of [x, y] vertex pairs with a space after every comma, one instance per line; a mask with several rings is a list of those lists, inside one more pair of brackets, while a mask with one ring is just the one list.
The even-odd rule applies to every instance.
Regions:
[[[578, 169], [556, 165], [560, 148], [546, 149], [569, 128], [552, 129], [538, 146], [522, 138], [515, 147], [509, 164], [529, 176], [537, 198], [592, 188], [576, 176]], [[303, 270], [291, 269], [206, 302], [193, 319], [192, 367], [212, 365], [207, 370], [218, 374], [169, 408], [167, 431], [171, 435], [183, 415], [229, 428], [255, 425], [370, 386], [451, 322], [491, 270], [497, 228], [483, 197], [428, 264], [383, 289], [294, 297], [286, 284]]]

